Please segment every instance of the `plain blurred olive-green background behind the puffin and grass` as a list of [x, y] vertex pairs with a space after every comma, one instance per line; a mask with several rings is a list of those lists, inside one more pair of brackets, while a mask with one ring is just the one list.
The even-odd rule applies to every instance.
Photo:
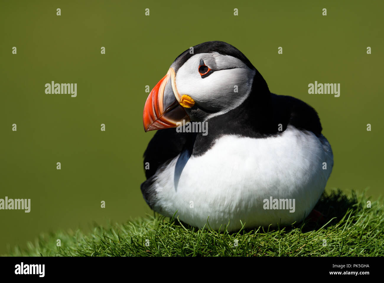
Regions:
[[[31, 212], [0, 211], [0, 254], [42, 232], [151, 213], [140, 191], [154, 134], [142, 126], [145, 86], [210, 40], [242, 51], [271, 92], [318, 111], [334, 153], [327, 189], [380, 196], [384, 5], [334, 2], [1, 1], [0, 198], [30, 198]], [[45, 94], [52, 80], [77, 83], [77, 97]], [[315, 80], [340, 83], [340, 97], [308, 94]]]

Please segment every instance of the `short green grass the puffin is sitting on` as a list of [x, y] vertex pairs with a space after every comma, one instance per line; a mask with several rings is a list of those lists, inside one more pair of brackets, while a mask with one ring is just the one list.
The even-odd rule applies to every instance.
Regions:
[[384, 205], [378, 200], [367, 208], [367, 200], [364, 193], [324, 193], [315, 208], [325, 215], [319, 223], [306, 219], [290, 227], [238, 233], [147, 216], [107, 228], [95, 226], [90, 234], [42, 234], [35, 244], [15, 247], [8, 256], [384, 256]]

